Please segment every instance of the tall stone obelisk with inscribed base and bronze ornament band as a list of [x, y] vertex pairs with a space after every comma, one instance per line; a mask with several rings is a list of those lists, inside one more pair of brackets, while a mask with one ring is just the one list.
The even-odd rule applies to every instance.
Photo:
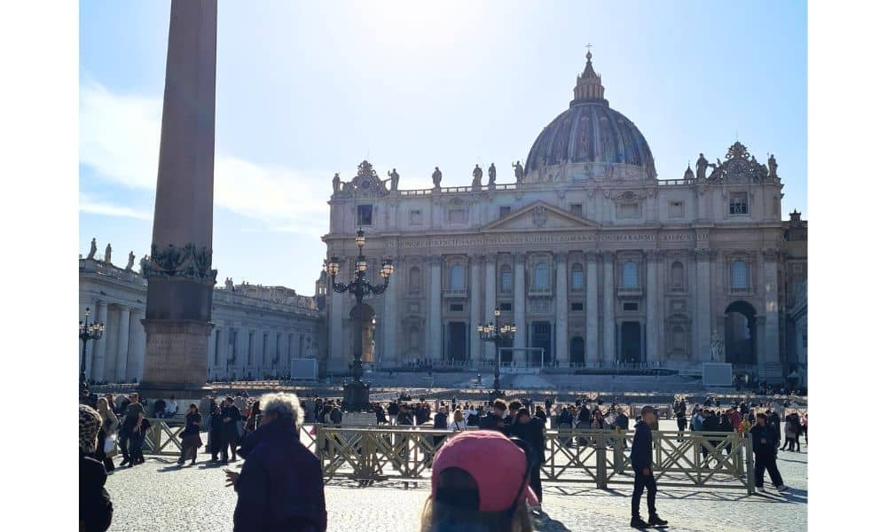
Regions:
[[145, 309], [147, 389], [207, 381], [216, 145], [216, 0], [173, 0]]

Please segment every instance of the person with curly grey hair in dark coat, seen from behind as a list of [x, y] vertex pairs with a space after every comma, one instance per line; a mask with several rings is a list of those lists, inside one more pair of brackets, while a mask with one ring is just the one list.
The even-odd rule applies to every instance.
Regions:
[[326, 499], [320, 460], [299, 441], [304, 413], [294, 394], [259, 399], [262, 420], [240, 443], [240, 473], [225, 471], [237, 492], [234, 532], [326, 530]]

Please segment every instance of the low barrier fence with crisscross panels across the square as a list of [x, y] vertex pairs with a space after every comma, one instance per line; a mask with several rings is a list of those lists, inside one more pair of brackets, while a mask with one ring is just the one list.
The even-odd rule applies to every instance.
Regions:
[[[184, 423], [151, 419], [145, 454], [178, 456]], [[468, 430], [476, 430], [469, 427]], [[207, 435], [206, 433], [201, 435]], [[326, 481], [430, 481], [436, 451], [452, 431], [418, 426], [302, 426], [302, 443], [320, 459]], [[607, 489], [633, 483], [634, 432], [546, 430], [546, 483], [589, 483]], [[663, 487], [745, 489], [754, 493], [751, 440], [738, 433], [654, 431], [653, 473]], [[483, 459], [483, 457], [477, 457]]]

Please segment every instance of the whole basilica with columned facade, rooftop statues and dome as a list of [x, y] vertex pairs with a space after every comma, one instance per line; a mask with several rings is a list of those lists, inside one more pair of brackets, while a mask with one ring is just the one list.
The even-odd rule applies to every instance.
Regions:
[[[773, 155], [764, 160], [735, 142], [659, 178], [640, 129], [604, 98], [589, 53], [569, 107], [523, 164], [508, 161], [506, 183], [494, 165], [453, 186], [435, 168], [422, 190], [400, 190], [396, 170], [383, 179], [368, 161], [351, 179], [334, 177], [327, 256], [349, 275], [361, 229], [367, 271], [392, 259], [396, 273], [364, 309], [328, 294], [327, 366], [346, 369], [358, 335], [365, 360], [381, 367], [491, 360], [476, 327], [499, 309], [517, 328], [506, 363], [715, 361], [783, 379], [789, 351], [797, 361], [786, 304], [805, 281], [806, 243], [787, 245], [781, 176]], [[796, 225], [805, 235], [799, 215]]]

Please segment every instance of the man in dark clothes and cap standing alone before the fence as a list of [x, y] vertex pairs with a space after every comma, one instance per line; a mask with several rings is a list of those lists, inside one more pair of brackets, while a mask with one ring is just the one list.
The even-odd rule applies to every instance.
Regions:
[[[660, 527], [668, 524], [656, 514], [656, 480], [653, 476], [653, 433], [650, 424], [656, 420], [652, 406], [640, 409], [640, 421], [634, 426], [632, 442], [632, 469], [634, 470], [634, 491], [632, 492], [632, 527]], [[640, 496], [647, 489], [648, 522], [640, 519]]]

